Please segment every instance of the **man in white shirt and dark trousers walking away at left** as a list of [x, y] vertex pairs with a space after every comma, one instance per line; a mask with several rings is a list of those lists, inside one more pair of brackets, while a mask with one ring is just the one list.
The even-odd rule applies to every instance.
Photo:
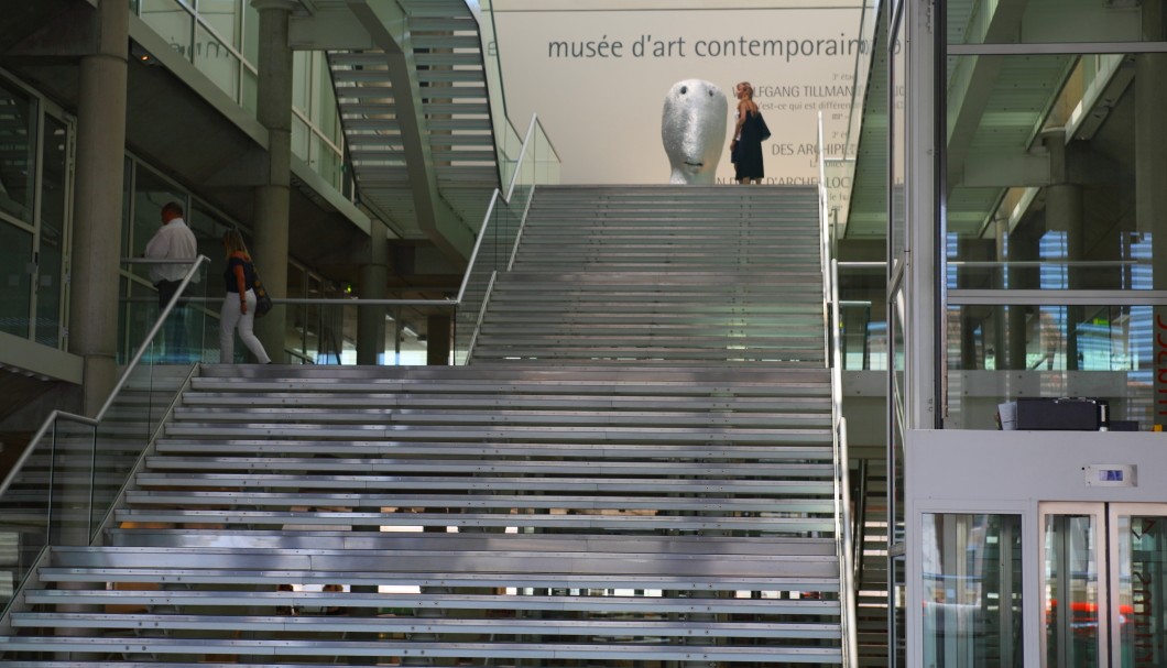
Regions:
[[[182, 205], [177, 202], [168, 202], [162, 206], [162, 226], [146, 244], [146, 256], [158, 260], [191, 260], [193, 262], [197, 255], [198, 241], [195, 240], [195, 233], [187, 226], [187, 222], [182, 219]], [[182, 277], [189, 270], [190, 265], [181, 262], [151, 265], [149, 279], [158, 288], [159, 312], [174, 298], [179, 286], [182, 284]], [[194, 281], [195, 279], [193, 279]], [[186, 321], [183, 303], [174, 304], [165, 326], [166, 356], [174, 361], [180, 361], [180, 358], [186, 357], [183, 354], [187, 338]]]

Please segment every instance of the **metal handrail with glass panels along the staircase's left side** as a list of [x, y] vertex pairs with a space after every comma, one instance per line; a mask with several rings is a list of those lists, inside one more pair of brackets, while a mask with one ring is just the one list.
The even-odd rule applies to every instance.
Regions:
[[[511, 181], [505, 192], [496, 190], [491, 198], [454, 298], [345, 300], [341, 308], [411, 307], [453, 312], [455, 332], [464, 332], [463, 340], [468, 342], [455, 349], [455, 358], [464, 363], [489, 303], [494, 279], [512, 261], [534, 187], [541, 182], [540, 162], [546, 160], [558, 163], [559, 159], [538, 117], [532, 115]], [[0, 522], [11, 529], [6, 533], [18, 536], [15, 563], [0, 567], [0, 578], [11, 583], [0, 588], [0, 605], [5, 611], [12, 603], [12, 592], [44, 558], [48, 546], [89, 544], [107, 525], [110, 508], [154, 442], [176, 398], [189, 385], [198, 363], [204, 358], [217, 359], [204, 345], [208, 322], [214, 323], [214, 318], [207, 317], [210, 314], [203, 304], [219, 301], [203, 291], [208, 263], [205, 256], [197, 259], [177, 295], [161, 310], [140, 345], [134, 349], [124, 344], [133, 352], [126, 356], [128, 363], [97, 415], [86, 417], [55, 410], [0, 483], [4, 511]], [[202, 290], [191, 286], [202, 286]], [[148, 308], [123, 314], [128, 325], [125, 331], [135, 331], [133, 323], [154, 312], [153, 298], [144, 297], [142, 302], [147, 301]], [[336, 307], [336, 300], [275, 302]], [[194, 318], [188, 311], [195, 314]]]

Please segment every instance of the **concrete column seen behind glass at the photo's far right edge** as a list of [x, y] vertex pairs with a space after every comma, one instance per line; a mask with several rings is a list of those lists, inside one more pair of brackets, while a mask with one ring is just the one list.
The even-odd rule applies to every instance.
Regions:
[[[1161, 2], [1142, 7], [1144, 38], [1162, 40]], [[1154, 289], [1167, 289], [1167, 54], [1139, 54], [1134, 69], [1134, 218], [1139, 232], [1151, 234]], [[1167, 307], [1156, 305], [1152, 344], [1155, 371], [1154, 424], [1167, 424]]]

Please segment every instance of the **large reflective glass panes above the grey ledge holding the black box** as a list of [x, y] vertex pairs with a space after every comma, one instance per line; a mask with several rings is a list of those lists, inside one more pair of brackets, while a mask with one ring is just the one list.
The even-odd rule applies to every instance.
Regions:
[[[1140, 20], [1137, 8], [1124, 14], [1103, 5], [1075, 5], [1075, 21], [1049, 30], [1082, 16]], [[1030, 9], [1018, 17], [1022, 42], [1041, 41], [1025, 33]], [[964, 27], [977, 24], [973, 17]], [[1005, 37], [984, 41], [994, 40]], [[949, 41], [983, 40], [950, 33]], [[1154, 307], [1149, 297], [1132, 303], [1156, 287], [1156, 259], [1167, 256], [1154, 251], [1152, 233], [1162, 189], [1147, 185], [1167, 154], [1145, 149], [1141, 139], [1161, 126], [1161, 110], [1135, 94], [1147, 91], [1140, 76], [1156, 76], [1146, 58], [948, 58], [946, 426], [993, 428], [990, 406], [1016, 396], [1106, 399], [1112, 420], [1154, 424], [1162, 389], [1154, 384], [1167, 375], [1156, 367]], [[1019, 290], [1039, 296], [1018, 303], [1009, 293]], [[1049, 290], [1077, 298], [1040, 296]], [[1132, 300], [1113, 303], [1103, 290]]]

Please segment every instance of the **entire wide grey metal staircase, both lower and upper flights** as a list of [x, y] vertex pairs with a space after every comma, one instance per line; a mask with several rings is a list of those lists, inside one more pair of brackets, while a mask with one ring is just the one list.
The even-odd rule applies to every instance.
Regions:
[[540, 189], [471, 366], [204, 366], [0, 658], [841, 665], [816, 217]]

